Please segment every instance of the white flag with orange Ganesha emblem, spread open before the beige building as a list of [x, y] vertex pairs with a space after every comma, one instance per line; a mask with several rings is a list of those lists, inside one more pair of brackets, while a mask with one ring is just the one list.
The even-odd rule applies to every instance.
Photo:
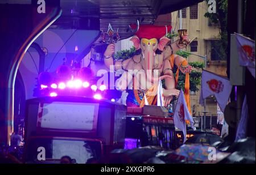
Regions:
[[224, 112], [229, 100], [229, 95], [232, 91], [232, 85], [230, 85], [228, 78], [203, 70], [201, 91], [203, 98], [200, 97], [200, 99], [205, 99], [208, 96], [214, 95], [221, 111]]

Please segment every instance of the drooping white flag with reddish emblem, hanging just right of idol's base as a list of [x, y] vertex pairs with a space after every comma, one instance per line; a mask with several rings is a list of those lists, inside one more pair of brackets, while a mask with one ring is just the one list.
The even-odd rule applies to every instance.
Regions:
[[187, 138], [186, 138], [187, 127], [186, 127], [186, 122], [185, 122], [186, 120], [188, 120], [190, 122], [192, 129], [195, 130], [195, 127], [193, 126], [194, 125], [193, 118], [191, 117], [191, 114], [189, 113], [187, 103], [185, 101], [184, 94], [181, 89], [180, 95], [177, 99], [175, 112], [174, 112], [174, 125], [175, 125], [175, 127], [177, 127], [178, 129], [180, 129], [183, 132], [184, 142], [187, 140]]

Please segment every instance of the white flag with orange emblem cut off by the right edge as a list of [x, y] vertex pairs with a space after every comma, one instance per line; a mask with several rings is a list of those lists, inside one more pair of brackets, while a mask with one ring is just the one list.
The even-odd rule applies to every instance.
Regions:
[[255, 41], [239, 33], [235, 34], [240, 66], [246, 66], [255, 78]]

